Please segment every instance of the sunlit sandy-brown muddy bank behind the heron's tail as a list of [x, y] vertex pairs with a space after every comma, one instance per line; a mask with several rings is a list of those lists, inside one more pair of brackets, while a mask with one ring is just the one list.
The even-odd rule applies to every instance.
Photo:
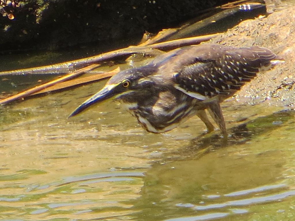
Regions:
[[272, 13], [267, 17], [243, 21], [211, 41], [235, 47], [267, 47], [285, 60], [246, 84], [235, 95], [239, 102], [295, 107], [295, 6], [280, 4], [282, 8], [270, 5]]

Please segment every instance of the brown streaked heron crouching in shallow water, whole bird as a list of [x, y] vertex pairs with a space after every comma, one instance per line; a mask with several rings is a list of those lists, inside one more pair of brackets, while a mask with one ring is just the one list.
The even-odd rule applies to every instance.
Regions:
[[118, 72], [69, 117], [92, 104], [115, 98], [149, 132], [169, 131], [195, 114], [211, 132], [214, 126], [207, 118], [207, 109], [226, 138], [220, 103], [261, 69], [281, 62], [271, 50], [257, 46], [204, 44], [178, 48], [145, 66]]

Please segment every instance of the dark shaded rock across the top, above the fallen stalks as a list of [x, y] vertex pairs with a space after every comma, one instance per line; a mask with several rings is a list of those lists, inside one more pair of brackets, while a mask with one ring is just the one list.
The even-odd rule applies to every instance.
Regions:
[[[227, 0], [2, 1], [0, 51], [58, 49], [157, 32]], [[1, 6], [0, 6], [1, 7]], [[0, 10], [1, 11], [1, 10]]]

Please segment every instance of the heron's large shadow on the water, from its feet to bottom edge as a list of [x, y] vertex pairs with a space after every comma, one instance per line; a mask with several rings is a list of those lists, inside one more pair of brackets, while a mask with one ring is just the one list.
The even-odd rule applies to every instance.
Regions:
[[249, 220], [257, 210], [276, 216], [280, 211], [270, 212], [271, 203], [295, 195], [283, 182], [284, 153], [271, 147], [257, 153], [239, 148], [293, 118], [294, 111], [259, 117], [231, 128], [226, 145], [217, 134], [196, 138], [178, 151], [178, 159], [153, 164], [143, 178], [140, 198], [132, 201], [139, 211], [135, 220], [240, 220], [242, 214], [242, 220]]

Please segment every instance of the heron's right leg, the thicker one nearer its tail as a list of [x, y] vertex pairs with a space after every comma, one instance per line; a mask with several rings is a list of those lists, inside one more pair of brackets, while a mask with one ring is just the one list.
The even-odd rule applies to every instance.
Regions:
[[214, 102], [209, 103], [208, 111], [209, 111], [211, 117], [213, 118], [213, 120], [215, 121], [215, 123], [217, 123], [220, 130], [222, 131], [223, 137], [225, 139], [227, 139], [227, 132], [226, 132], [226, 127], [225, 127], [225, 122], [224, 122], [224, 118], [223, 118], [223, 115], [222, 115], [222, 110], [221, 110], [219, 102], [214, 101]]

